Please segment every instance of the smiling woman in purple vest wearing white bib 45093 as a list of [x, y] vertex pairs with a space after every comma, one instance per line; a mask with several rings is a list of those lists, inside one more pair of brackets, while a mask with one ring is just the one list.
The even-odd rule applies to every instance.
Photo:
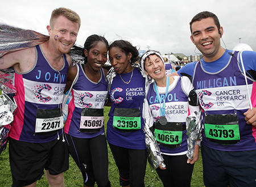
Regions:
[[110, 186], [104, 129], [107, 70], [102, 69], [108, 48], [104, 37], [89, 36], [84, 44], [85, 63], [69, 68], [65, 88], [68, 90], [73, 82], [64, 131], [69, 154], [82, 172], [84, 186], [94, 186], [95, 182], [98, 186]]

